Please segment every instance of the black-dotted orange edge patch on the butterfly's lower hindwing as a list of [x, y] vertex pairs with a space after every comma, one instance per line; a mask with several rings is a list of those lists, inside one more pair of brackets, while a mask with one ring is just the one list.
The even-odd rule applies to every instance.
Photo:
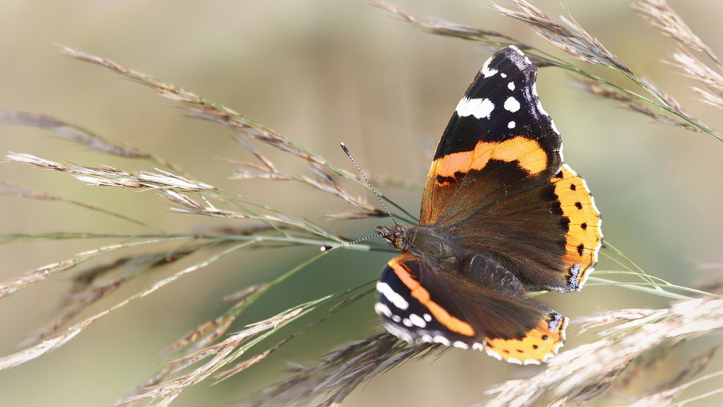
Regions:
[[489, 356], [516, 364], [540, 364], [565, 343], [568, 319], [560, 314], [550, 314], [522, 339], [487, 339], [484, 351]]

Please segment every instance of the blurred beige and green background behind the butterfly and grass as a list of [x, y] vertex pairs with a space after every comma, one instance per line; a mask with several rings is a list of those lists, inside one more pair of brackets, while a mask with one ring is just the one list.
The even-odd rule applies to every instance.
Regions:
[[[417, 15], [497, 30], [560, 55], [528, 28], [492, 12], [488, 1], [398, 0], [393, 4]], [[688, 113], [714, 129], [723, 129], [720, 112], [694, 100], [686, 88], [695, 84], [671, 74], [672, 67], [661, 62], [672, 51], [671, 41], [647, 27], [628, 1], [560, 4], [555, 0], [537, 1], [536, 6], [553, 18], [567, 10], [621, 61], [675, 96]], [[672, 7], [714, 51], [723, 53], [723, 36], [714, 17], [723, 13], [723, 3], [672, 1]], [[56, 44], [103, 56], [234, 108], [353, 170], [338, 147], [345, 142], [372, 179], [415, 185], [424, 183], [442, 130], [489, 56], [475, 43], [423, 33], [361, 0], [0, 1], [0, 108], [48, 114], [78, 124], [109, 140], [172, 160], [201, 181], [358, 237], [373, 234], [374, 226], [385, 220], [330, 223], [320, 213], [352, 208], [290, 183], [228, 179], [234, 165], [219, 158], [249, 160], [247, 151], [229, 137], [234, 134], [231, 130], [190, 119], [177, 103], [107, 69], [61, 56]], [[620, 79], [604, 69], [584, 68]], [[562, 133], [565, 159], [585, 177], [602, 212], [606, 241], [648, 273], [672, 283], [692, 286], [719, 271], [723, 265], [722, 143], [703, 134], [652, 124], [638, 113], [585, 95], [558, 69], [542, 69], [538, 79], [544, 108]], [[0, 124], [0, 148], [61, 163], [153, 169], [145, 162], [100, 155], [32, 127]], [[288, 155], [265, 153], [282, 165], [297, 165], [286, 163]], [[127, 213], [166, 231], [244, 226], [240, 220], [171, 213], [168, 202], [153, 192], [89, 187], [64, 174], [17, 163], [0, 163], [0, 177]], [[382, 189], [417, 213], [421, 190]], [[367, 192], [359, 189], [358, 193], [374, 201]], [[132, 224], [61, 202], [4, 194], [0, 208], [4, 234], [138, 231]], [[0, 280], [111, 243], [3, 244]], [[222, 296], [271, 280], [316, 252], [314, 247], [288, 249], [283, 255], [242, 252], [192, 273], [112, 312], [59, 350], [0, 372], [1, 404], [108, 406], [163, 366], [166, 360], [157, 357], [163, 346], [220, 314]], [[244, 321], [374, 280], [389, 257], [335, 252], [280, 288], [275, 300], [250, 309]], [[601, 258], [599, 270], [620, 268]], [[174, 270], [178, 269], [137, 278], [82, 316], [111, 307]], [[59, 296], [68, 287], [69, 276], [61, 274], [1, 299], [1, 356], [17, 351], [18, 343], [51, 321]], [[572, 318], [606, 309], [666, 304], [656, 296], [594, 286], [576, 294], [548, 294], [544, 301]], [[380, 330], [372, 303], [371, 297], [358, 301], [247, 372], [220, 385], [201, 384], [187, 390], [174, 406], [231, 405], [283, 379], [283, 370], [292, 364]], [[592, 339], [575, 333], [575, 327], [568, 330], [566, 348]], [[669, 359], [670, 366], [675, 366], [676, 358], [688, 359], [709, 344], [709, 338], [701, 338], [682, 346]], [[489, 385], [535, 369], [453, 350], [377, 376], [344, 405], [468, 406], [484, 400]], [[709, 388], [714, 383], [695, 391]], [[629, 401], [620, 397], [621, 403]], [[698, 405], [708, 402], [719, 405], [720, 399]]]

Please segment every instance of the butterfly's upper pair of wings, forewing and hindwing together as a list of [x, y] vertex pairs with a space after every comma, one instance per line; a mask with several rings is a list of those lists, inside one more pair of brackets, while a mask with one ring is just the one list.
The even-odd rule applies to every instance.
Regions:
[[582, 287], [602, 244], [584, 181], [536, 94], [536, 68], [514, 46], [477, 74], [442, 136], [420, 223], [488, 252], [525, 286]]

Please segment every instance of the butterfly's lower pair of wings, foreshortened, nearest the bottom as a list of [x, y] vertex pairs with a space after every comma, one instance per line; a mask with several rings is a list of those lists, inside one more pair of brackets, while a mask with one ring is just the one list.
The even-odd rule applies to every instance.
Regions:
[[484, 350], [497, 359], [538, 364], [557, 353], [567, 319], [526, 299], [518, 280], [487, 257], [470, 275], [432, 270], [411, 254], [388, 262], [377, 282], [375, 309], [386, 329], [410, 343]]

